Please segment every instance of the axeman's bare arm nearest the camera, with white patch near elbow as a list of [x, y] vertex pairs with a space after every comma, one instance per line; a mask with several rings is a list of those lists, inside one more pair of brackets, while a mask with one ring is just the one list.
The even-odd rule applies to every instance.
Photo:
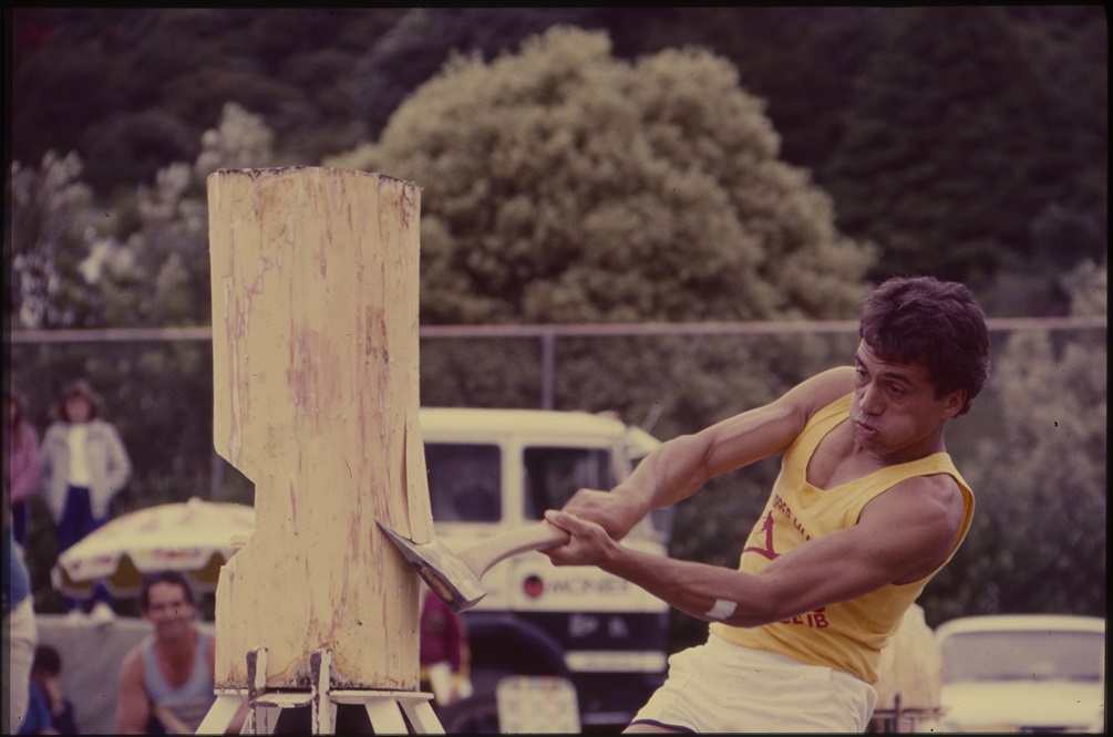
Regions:
[[949, 477], [908, 479], [866, 505], [854, 527], [809, 540], [757, 575], [637, 552], [564, 511], [545, 518], [572, 534], [545, 551], [554, 564], [594, 565], [693, 617], [756, 627], [923, 578], [953, 550], [963, 499]]

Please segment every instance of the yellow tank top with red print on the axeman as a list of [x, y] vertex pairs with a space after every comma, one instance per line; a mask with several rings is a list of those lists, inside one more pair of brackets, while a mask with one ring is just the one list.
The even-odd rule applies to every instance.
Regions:
[[[770, 560], [801, 542], [853, 527], [866, 502], [879, 494], [905, 479], [935, 474], [954, 477], [966, 502], [963, 525], [947, 560], [954, 556], [969, 529], [974, 495], [945, 452], [881, 468], [827, 490], [808, 484], [806, 470], [811, 455], [824, 436], [849, 419], [849, 409], [850, 396], [847, 395], [817, 412], [785, 452], [769, 501], [742, 548], [739, 570], [757, 574]], [[736, 645], [846, 670], [874, 684], [877, 683], [881, 648], [896, 633], [905, 610], [939, 568], [918, 581], [890, 584], [856, 599], [785, 621], [749, 628], [715, 623], [710, 629]]]

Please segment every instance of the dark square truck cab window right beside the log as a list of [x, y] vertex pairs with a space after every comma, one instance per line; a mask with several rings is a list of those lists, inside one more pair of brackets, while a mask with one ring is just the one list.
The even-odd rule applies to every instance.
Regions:
[[502, 452], [495, 445], [426, 442], [434, 521], [496, 522], [502, 517]]

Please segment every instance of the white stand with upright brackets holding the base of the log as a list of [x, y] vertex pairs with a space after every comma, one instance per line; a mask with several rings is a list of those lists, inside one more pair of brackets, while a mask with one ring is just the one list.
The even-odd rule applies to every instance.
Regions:
[[363, 705], [376, 735], [443, 735], [430, 705], [432, 694], [420, 691], [386, 691], [371, 689], [332, 690], [329, 688], [331, 650], [316, 650], [309, 656], [313, 677], [311, 690], [274, 690], [266, 686], [267, 650], [256, 648], [247, 654], [248, 687], [217, 689], [217, 699], [197, 728], [198, 735], [223, 734], [247, 699], [247, 718], [240, 734], [274, 734], [283, 709], [309, 707], [311, 734], [335, 734], [338, 704]]

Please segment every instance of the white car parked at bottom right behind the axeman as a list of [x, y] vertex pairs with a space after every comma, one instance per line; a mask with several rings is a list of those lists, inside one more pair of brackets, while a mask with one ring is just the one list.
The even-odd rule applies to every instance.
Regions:
[[943, 716], [923, 731], [1105, 730], [1105, 620], [962, 617], [936, 628]]

